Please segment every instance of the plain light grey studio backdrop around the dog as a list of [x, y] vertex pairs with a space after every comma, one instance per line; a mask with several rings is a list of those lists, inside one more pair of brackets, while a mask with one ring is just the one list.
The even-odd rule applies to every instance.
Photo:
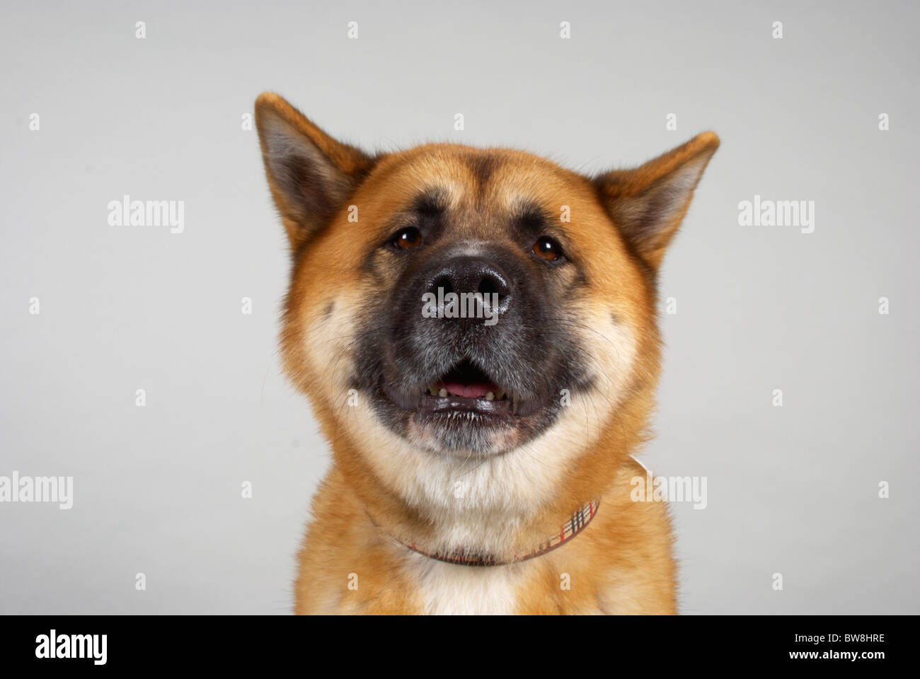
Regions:
[[[273, 89], [372, 149], [584, 171], [719, 132], [644, 457], [708, 478], [673, 508], [682, 611], [920, 612], [915, 3], [284, 5], [2, 3], [0, 475], [71, 475], [75, 505], [0, 504], [0, 611], [290, 609], [328, 452], [280, 375], [286, 242], [240, 129]], [[126, 193], [185, 201], [185, 233], [109, 226]], [[814, 233], [740, 226], [754, 194], [815, 201]]]

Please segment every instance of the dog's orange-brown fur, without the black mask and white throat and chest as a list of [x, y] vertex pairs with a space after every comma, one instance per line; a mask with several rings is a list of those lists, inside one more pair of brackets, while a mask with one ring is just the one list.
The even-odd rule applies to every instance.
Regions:
[[[558, 477], [551, 497], [518, 517], [503, 554], [538, 544], [574, 509], [600, 499], [592, 523], [544, 556], [479, 569], [445, 564], [439, 566], [443, 577], [463, 579], [473, 591], [473, 579], [499, 577], [483, 571], [504, 569], [500, 577], [507, 576], [505, 589], [512, 589], [510, 612], [521, 614], [675, 613], [676, 568], [667, 508], [660, 502], [630, 500], [630, 479], [645, 475], [630, 454], [648, 436], [659, 375], [656, 272], [696, 181], [719, 145], [718, 137], [706, 132], [635, 170], [592, 179], [535, 155], [456, 144], [428, 144], [371, 157], [328, 137], [277, 95], [259, 97], [256, 110], [271, 193], [294, 253], [283, 317], [284, 368], [309, 397], [333, 453], [299, 554], [295, 612], [436, 610], [420, 592], [419, 574], [430, 573], [431, 565], [388, 534], [409, 535], [432, 550], [444, 547], [438, 542], [438, 520], [432, 518], [440, 514], [407, 501], [393, 488], [388, 471], [375, 466], [378, 463], [369, 464], [366, 432], [357, 431], [359, 424], [344, 407], [338, 376], [339, 363], [348, 363], [353, 344], [350, 314], [357, 312], [364, 295], [392, 284], [385, 268], [369, 275], [362, 268], [363, 258], [385, 238], [385, 224], [404, 208], [411, 191], [436, 184], [449, 188], [449, 200], [460, 213], [475, 216], [462, 226], [468, 238], [497, 237], [489, 219], [519, 193], [553, 209], [569, 205], [569, 247], [590, 282], [588, 293], [573, 305], [592, 323], [612, 313], [628, 328], [635, 345], [627, 381], [615, 390], [616, 402], [604, 399], [613, 396], [608, 386], [606, 395], [593, 397], [593, 409], [600, 412], [594, 426], [576, 442], [560, 437], [558, 445], [571, 448], [577, 464]], [[322, 165], [333, 190], [340, 191], [328, 216], [323, 216], [323, 208], [316, 211], [321, 218], [311, 218], [293, 204], [299, 185], [292, 194], [292, 182], [279, 175], [270, 134], [284, 129], [284, 124], [305, 137], [307, 155], [319, 150], [322, 155], [309, 162]], [[308, 183], [311, 177], [305, 173], [300, 179]], [[322, 207], [322, 190], [306, 187], [304, 201], [319, 201]], [[359, 208], [357, 223], [347, 219], [351, 204]], [[326, 331], [317, 328], [330, 318], [342, 327], [320, 336]], [[320, 340], [328, 342], [324, 351], [317, 349]], [[560, 588], [563, 574], [570, 579], [569, 590]], [[355, 576], [358, 586], [352, 589], [349, 583]]]

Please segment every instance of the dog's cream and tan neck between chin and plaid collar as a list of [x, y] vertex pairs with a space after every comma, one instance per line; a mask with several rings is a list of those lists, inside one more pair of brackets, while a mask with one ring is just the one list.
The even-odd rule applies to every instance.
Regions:
[[594, 503], [638, 443], [636, 433], [605, 433], [578, 453], [578, 465], [560, 462], [552, 441], [546, 451], [529, 446], [453, 468], [386, 432], [377, 432], [375, 457], [359, 453], [370, 442], [353, 445], [346, 437], [334, 439], [333, 450], [344, 486], [353, 489], [368, 526], [387, 541], [396, 536], [426, 555], [506, 562], [539, 552], [585, 507], [593, 515]]

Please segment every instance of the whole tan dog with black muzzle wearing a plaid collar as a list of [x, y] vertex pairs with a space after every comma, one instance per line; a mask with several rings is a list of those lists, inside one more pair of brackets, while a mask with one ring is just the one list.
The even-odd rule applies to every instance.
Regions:
[[656, 277], [719, 137], [586, 177], [504, 148], [368, 154], [256, 101], [290, 241], [285, 374], [332, 449], [297, 614], [674, 614], [633, 501]]

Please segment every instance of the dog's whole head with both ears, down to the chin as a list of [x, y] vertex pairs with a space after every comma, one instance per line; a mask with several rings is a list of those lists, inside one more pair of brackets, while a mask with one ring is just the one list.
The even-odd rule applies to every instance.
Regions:
[[364, 155], [275, 95], [257, 121], [293, 250], [285, 363], [330, 436], [429, 459], [552, 437], [561, 465], [653, 386], [655, 271], [714, 134], [586, 178], [454, 144]]

